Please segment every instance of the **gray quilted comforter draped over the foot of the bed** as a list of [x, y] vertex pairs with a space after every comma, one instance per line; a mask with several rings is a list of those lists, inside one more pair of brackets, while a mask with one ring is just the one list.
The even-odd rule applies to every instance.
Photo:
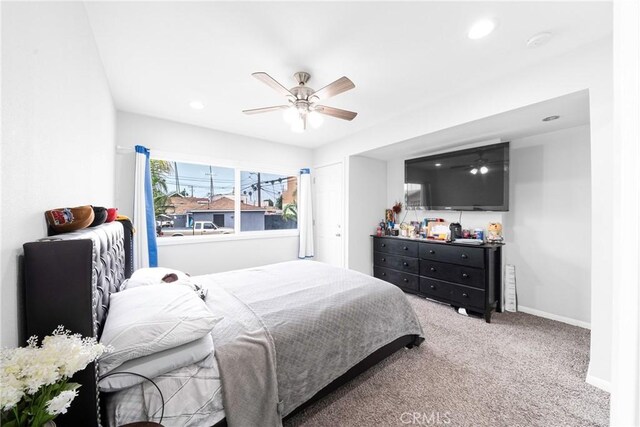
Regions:
[[212, 331], [227, 422], [282, 417], [380, 347], [422, 328], [397, 287], [314, 261], [195, 277], [225, 320]]

